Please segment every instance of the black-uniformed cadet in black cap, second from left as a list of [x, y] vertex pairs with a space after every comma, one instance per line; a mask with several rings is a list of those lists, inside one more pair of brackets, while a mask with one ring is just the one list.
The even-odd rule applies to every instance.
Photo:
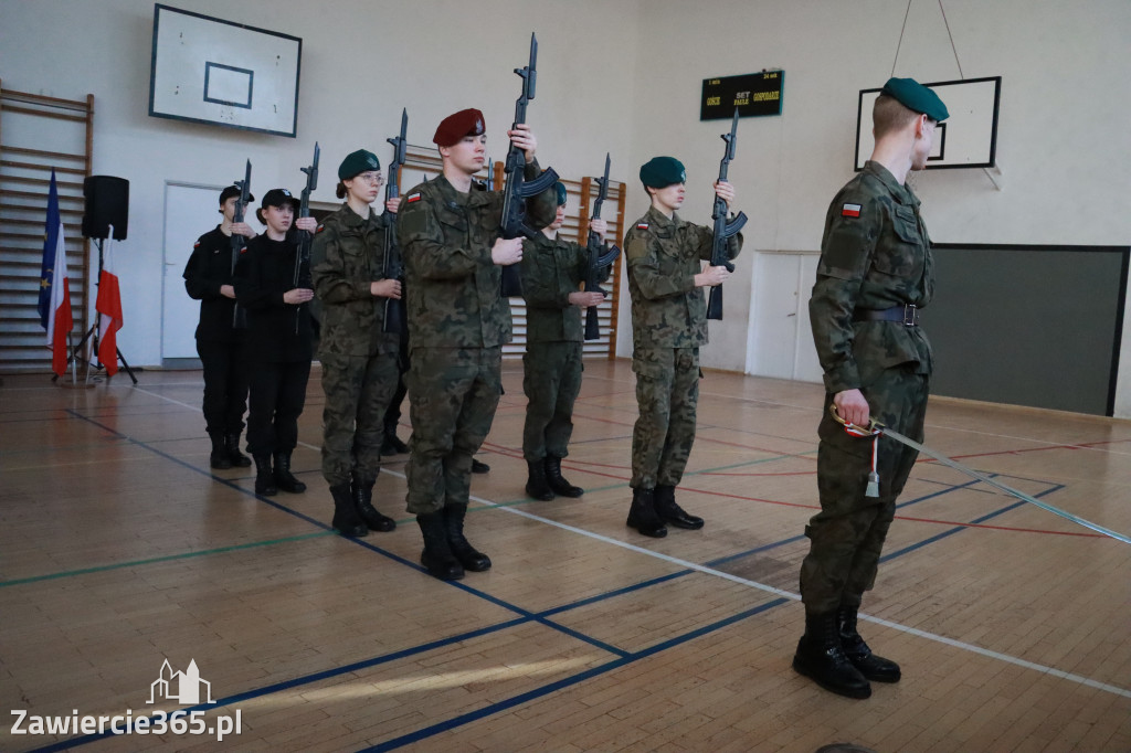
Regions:
[[[299, 443], [299, 416], [307, 400], [314, 331], [309, 301], [310, 270], [294, 284], [299, 242], [292, 225], [313, 232], [313, 217], [295, 220], [299, 201], [286, 189], [271, 189], [256, 211], [267, 231], [248, 242], [235, 267], [235, 296], [248, 310], [248, 451], [256, 460], [256, 494], [278, 490], [297, 494], [307, 485], [291, 475], [291, 452]], [[271, 462], [274, 460], [274, 469]]]

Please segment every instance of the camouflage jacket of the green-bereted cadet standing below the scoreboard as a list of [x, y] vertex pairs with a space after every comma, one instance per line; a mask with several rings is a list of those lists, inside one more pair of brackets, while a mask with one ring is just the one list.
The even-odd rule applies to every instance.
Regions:
[[[690, 348], [707, 343], [707, 301], [696, 287], [702, 261], [710, 261], [715, 232], [649, 207], [624, 235], [632, 297], [632, 340], [638, 346]], [[742, 234], [729, 241], [729, 258]]]

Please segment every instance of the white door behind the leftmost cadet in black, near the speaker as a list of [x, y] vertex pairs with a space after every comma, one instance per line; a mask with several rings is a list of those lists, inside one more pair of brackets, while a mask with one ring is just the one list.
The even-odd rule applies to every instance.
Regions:
[[219, 224], [219, 192], [207, 185], [165, 185], [164, 279], [162, 280], [161, 357], [196, 358], [200, 302], [184, 291], [184, 265], [197, 239]]

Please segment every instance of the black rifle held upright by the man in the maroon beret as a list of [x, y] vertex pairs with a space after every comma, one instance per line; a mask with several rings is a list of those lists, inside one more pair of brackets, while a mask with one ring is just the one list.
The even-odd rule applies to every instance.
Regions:
[[[515, 72], [523, 79], [523, 94], [515, 101], [515, 123], [517, 126], [526, 122], [526, 105], [534, 98], [534, 85], [537, 79], [535, 67], [538, 62], [538, 40], [530, 34], [530, 62], [525, 68], [516, 68]], [[553, 167], [547, 167], [533, 181], [526, 180], [526, 155], [513, 141], [507, 150], [507, 184], [503, 188], [502, 219], [499, 223], [499, 231], [504, 239], [527, 237], [533, 239], [537, 231], [530, 230], [526, 225], [526, 200], [550, 189], [558, 182], [558, 173]], [[523, 294], [523, 283], [517, 265], [502, 268], [503, 297], [511, 297]]]

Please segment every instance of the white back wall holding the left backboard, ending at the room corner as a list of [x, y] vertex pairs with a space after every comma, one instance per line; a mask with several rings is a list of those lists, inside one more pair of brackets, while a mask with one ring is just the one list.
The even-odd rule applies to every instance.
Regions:
[[[257, 197], [297, 191], [316, 140], [322, 171], [314, 199], [336, 202], [337, 165], [357, 148], [382, 161], [408, 109], [408, 139], [431, 145], [437, 123], [483, 110], [490, 156], [506, 154], [530, 32], [538, 83], [528, 121], [543, 164], [563, 175], [599, 174], [605, 152], [628, 154], [636, 1], [173, 0], [178, 8], [302, 37], [294, 139], [148, 116], [152, 0], [0, 0], [0, 78], [6, 88], [64, 98], [95, 95], [94, 172], [130, 181], [129, 237], [118, 245], [131, 365], [161, 363], [164, 192], [167, 181], [224, 184], [253, 165]], [[624, 167], [616, 162], [614, 168]], [[407, 187], [405, 187], [407, 188]], [[204, 233], [218, 215], [205, 217]], [[185, 237], [187, 245], [196, 236]], [[180, 275], [180, 270], [171, 270]], [[93, 305], [92, 296], [92, 305]]]

